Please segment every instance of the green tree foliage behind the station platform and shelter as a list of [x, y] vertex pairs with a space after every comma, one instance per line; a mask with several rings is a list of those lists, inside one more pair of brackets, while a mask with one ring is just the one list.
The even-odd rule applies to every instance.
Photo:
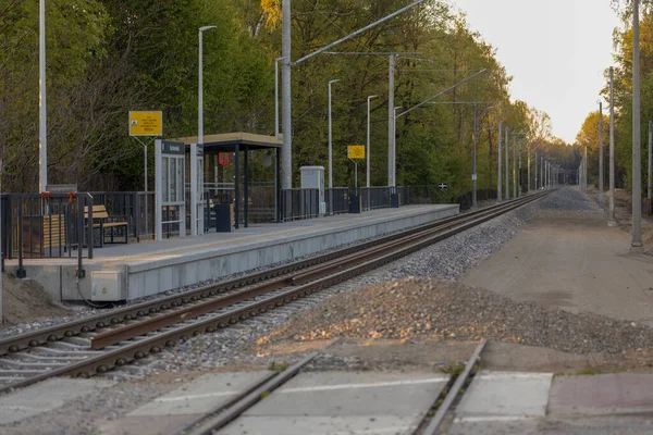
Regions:
[[[292, 58], [306, 55], [407, 3], [293, 2]], [[217, 26], [204, 34], [205, 132], [273, 133], [280, 1], [71, 0], [48, 4], [49, 166], [53, 183], [77, 183], [82, 189], [140, 189], [143, 146], [127, 136], [130, 110], [163, 111], [165, 137], [196, 134], [198, 28], [205, 25]], [[7, 10], [0, 7], [4, 190], [36, 188], [37, 29], [38, 2], [11, 0]], [[564, 145], [550, 140], [545, 114], [525, 102], [510, 101], [510, 77], [496, 60], [494, 48], [470, 30], [465, 16], [452, 11], [448, 2], [428, 0], [336, 50], [419, 52], [399, 55], [396, 61], [395, 105], [404, 110], [488, 70], [433, 100], [447, 104], [426, 104], [397, 120], [398, 184], [447, 183], [454, 196], [470, 190], [475, 111], [468, 102], [479, 102], [480, 189], [496, 185], [500, 123], [513, 132], [528, 132], [530, 139], [540, 138], [549, 147]], [[293, 67], [295, 185], [299, 166], [326, 165], [331, 79], [341, 80], [333, 86], [335, 185], [353, 185], [354, 165], [346, 148], [366, 142], [367, 97], [371, 95], [379, 96], [371, 105], [371, 183], [386, 184], [387, 71], [384, 54], [323, 54]], [[254, 175], [266, 171], [255, 170]], [[359, 183], [365, 183], [365, 171], [359, 172]]]

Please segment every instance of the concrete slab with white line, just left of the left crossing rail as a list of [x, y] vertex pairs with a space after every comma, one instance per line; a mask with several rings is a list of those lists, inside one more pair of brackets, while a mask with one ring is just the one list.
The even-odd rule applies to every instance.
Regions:
[[198, 377], [130, 412], [127, 417], [201, 414], [237, 396], [270, 371], [215, 373]]

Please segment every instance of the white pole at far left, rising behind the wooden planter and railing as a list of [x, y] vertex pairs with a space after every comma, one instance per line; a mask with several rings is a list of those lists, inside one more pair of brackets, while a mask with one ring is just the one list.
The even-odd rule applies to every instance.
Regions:
[[39, 191], [46, 191], [48, 187], [48, 128], [46, 116], [46, 1], [39, 2], [38, 21], [38, 70], [39, 70], [39, 126], [38, 126], [38, 150], [39, 150]]

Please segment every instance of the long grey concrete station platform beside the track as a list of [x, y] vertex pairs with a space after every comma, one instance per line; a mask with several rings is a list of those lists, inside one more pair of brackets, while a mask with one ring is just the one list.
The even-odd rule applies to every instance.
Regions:
[[[84, 259], [86, 277], [77, 288], [76, 258], [25, 260], [27, 278], [40, 283], [54, 300], [134, 300], [313, 254], [459, 213], [458, 204], [408, 206], [361, 214], [340, 214], [289, 223], [254, 224], [232, 233], [141, 241], [94, 249]], [[5, 262], [14, 273], [16, 260]], [[94, 272], [116, 276], [110, 295], [93, 294]], [[99, 275], [95, 274], [96, 279]], [[112, 296], [113, 295], [113, 296]]]

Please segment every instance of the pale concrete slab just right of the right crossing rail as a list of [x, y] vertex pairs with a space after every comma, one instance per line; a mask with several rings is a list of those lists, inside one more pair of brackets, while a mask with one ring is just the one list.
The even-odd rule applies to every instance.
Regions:
[[461, 422], [518, 421], [544, 417], [551, 373], [485, 372], [476, 375], [456, 408]]

